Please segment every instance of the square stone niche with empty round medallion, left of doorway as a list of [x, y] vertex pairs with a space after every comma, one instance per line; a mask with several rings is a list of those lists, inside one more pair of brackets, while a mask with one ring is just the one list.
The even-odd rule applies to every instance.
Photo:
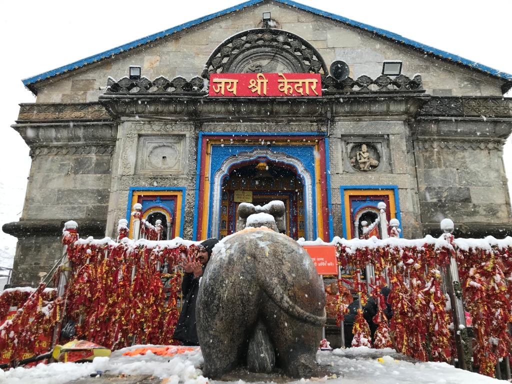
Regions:
[[136, 172], [138, 174], [179, 174], [186, 169], [188, 147], [185, 135], [139, 137]]

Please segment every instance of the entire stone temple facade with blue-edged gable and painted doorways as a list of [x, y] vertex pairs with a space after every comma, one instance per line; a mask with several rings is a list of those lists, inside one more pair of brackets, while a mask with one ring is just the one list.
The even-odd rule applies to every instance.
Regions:
[[359, 237], [379, 202], [406, 238], [443, 218], [512, 234], [512, 75], [342, 16], [251, 0], [24, 84], [14, 285], [50, 271], [63, 222], [115, 238], [135, 203], [166, 239], [223, 238], [240, 202], [272, 200], [294, 239]]

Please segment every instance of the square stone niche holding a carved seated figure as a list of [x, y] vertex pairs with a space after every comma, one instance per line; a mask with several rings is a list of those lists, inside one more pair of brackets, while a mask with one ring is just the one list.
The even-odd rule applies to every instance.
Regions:
[[342, 163], [345, 172], [389, 172], [387, 137], [342, 137]]

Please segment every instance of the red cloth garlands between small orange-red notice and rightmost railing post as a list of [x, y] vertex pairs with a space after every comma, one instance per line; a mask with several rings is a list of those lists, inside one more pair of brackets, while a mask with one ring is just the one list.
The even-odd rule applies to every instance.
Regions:
[[[398, 246], [396, 240], [377, 246], [372, 240], [366, 242], [368, 246], [361, 246], [365, 241], [358, 240], [355, 247], [351, 247], [349, 241], [338, 243], [338, 260], [345, 267], [352, 265], [360, 268], [370, 264], [374, 268], [378, 283], [372, 286], [372, 296], [378, 303], [374, 317], [377, 324], [374, 346], [385, 348], [393, 345], [397, 351], [423, 361], [449, 361], [451, 319], [445, 310], [440, 275], [429, 274], [429, 271], [434, 266], [448, 265], [453, 248], [448, 243], [439, 247], [427, 242], [422, 246]], [[386, 303], [380, 294], [380, 288], [387, 285], [383, 278], [386, 274], [391, 287], [388, 303], [393, 311], [389, 325], [382, 314]], [[429, 276], [429, 279], [425, 276]], [[353, 281], [354, 289], [361, 292], [364, 299], [364, 284], [357, 275], [354, 275]], [[364, 300], [361, 304], [365, 304]], [[354, 325], [354, 335], [363, 327], [362, 324]]]

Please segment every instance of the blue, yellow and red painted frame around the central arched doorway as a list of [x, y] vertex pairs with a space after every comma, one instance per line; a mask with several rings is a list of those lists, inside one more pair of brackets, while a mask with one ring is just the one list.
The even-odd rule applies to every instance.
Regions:
[[[260, 135], [254, 138], [253, 134], [240, 134], [242, 137], [231, 134], [227, 143], [227, 135], [217, 137], [218, 135], [220, 134], [204, 134], [200, 138], [202, 149], [197, 167], [195, 239], [221, 237], [223, 181], [233, 169], [248, 165], [248, 162], [253, 162], [255, 166], [261, 159], [280, 167], [291, 167], [302, 181], [304, 224], [299, 222], [297, 227], [304, 225], [304, 238], [330, 239], [329, 189], [325, 187], [328, 185], [328, 171], [322, 171], [325, 169], [324, 140], [302, 134], [298, 134], [298, 138], [271, 135], [264, 137], [266, 141], [263, 146]], [[258, 140], [260, 145], [255, 147]], [[227, 211], [227, 207], [224, 209]], [[234, 219], [236, 212], [231, 211], [229, 215]], [[226, 228], [227, 224], [226, 221]]]

